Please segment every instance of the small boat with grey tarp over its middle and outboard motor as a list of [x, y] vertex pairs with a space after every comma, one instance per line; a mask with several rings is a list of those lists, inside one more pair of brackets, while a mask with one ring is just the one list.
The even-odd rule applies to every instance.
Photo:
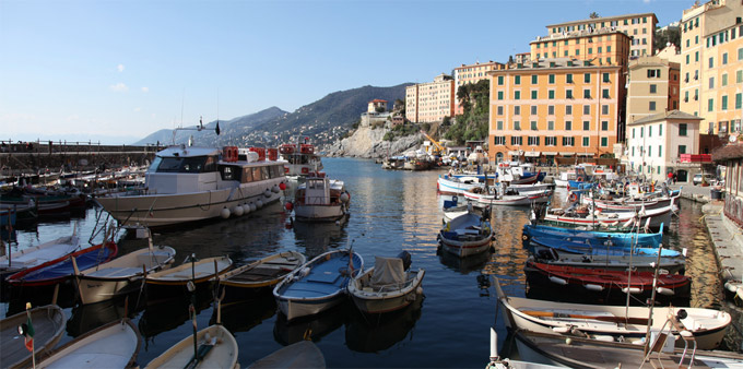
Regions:
[[410, 253], [376, 257], [374, 266], [349, 283], [349, 296], [358, 310], [378, 314], [405, 308], [423, 294], [425, 270], [410, 270]]

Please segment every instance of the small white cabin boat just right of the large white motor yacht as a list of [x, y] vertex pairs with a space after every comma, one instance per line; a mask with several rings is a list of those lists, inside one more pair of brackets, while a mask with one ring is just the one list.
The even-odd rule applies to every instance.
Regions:
[[312, 172], [297, 188], [293, 207], [297, 221], [335, 222], [347, 216], [350, 205], [351, 194], [343, 181]]

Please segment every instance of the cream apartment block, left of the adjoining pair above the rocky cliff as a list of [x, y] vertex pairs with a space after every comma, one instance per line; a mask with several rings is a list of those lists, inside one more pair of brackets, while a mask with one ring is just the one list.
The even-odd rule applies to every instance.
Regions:
[[434, 82], [405, 87], [405, 119], [423, 123], [453, 117], [455, 100], [455, 80], [441, 73]]

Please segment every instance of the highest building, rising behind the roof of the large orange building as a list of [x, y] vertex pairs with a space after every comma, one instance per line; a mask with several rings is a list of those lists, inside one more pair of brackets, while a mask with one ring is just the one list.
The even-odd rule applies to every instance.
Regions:
[[[620, 31], [632, 38], [629, 56], [651, 56], [656, 40], [658, 17], [653, 13], [626, 14], [617, 16], [600, 16], [582, 21], [573, 21], [547, 25], [547, 37], [571, 32]], [[532, 60], [533, 60], [532, 53]], [[562, 57], [562, 56], [558, 56]]]

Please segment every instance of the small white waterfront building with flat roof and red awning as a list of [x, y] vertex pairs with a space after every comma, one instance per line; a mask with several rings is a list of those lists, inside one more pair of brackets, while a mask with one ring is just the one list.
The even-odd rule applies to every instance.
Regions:
[[[627, 122], [627, 169], [649, 180], [664, 181], [669, 171], [687, 181], [701, 171], [701, 118], [669, 110]], [[709, 155], [707, 155], [709, 156]], [[709, 163], [709, 157], [704, 160]]]

